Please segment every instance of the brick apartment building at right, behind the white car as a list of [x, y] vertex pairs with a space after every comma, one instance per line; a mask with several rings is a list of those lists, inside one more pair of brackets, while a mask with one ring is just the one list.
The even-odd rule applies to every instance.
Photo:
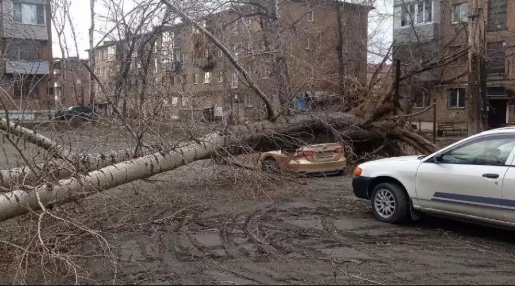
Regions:
[[[486, 20], [488, 126], [515, 123], [515, 1], [478, 0]], [[466, 48], [468, 12], [464, 0], [395, 0], [393, 39], [403, 64], [435, 60]], [[468, 127], [468, 53], [447, 66], [426, 71], [403, 84], [415, 112], [436, 103], [437, 122]], [[404, 65], [403, 65], [404, 66]], [[411, 65], [410, 68], [413, 68]], [[414, 119], [432, 122], [428, 112]]]

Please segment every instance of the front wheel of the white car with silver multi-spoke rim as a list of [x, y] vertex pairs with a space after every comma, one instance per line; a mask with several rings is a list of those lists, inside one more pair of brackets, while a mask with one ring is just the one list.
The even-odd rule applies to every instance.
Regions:
[[372, 191], [372, 212], [382, 222], [401, 223], [409, 215], [409, 198], [404, 189], [392, 183], [382, 183]]

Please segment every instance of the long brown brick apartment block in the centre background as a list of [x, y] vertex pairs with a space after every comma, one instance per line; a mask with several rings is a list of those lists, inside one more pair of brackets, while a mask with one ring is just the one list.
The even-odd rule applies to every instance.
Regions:
[[[342, 28], [337, 24], [338, 6], [344, 19]], [[341, 29], [345, 78], [366, 81], [370, 9], [370, 6], [326, 0], [281, 2], [278, 17], [284, 32], [280, 34], [280, 51], [287, 59], [290, 94], [301, 99], [300, 109], [319, 106], [317, 101], [333, 97], [339, 105], [343, 102], [342, 86], [337, 80], [338, 29]], [[252, 6], [235, 6], [204, 17], [199, 23], [226, 44], [277, 106], [278, 86], [274, 86], [270, 78], [272, 53], [278, 51], [265, 44], [260, 18], [255, 12]], [[242, 17], [242, 14], [253, 15]], [[105, 42], [96, 49], [95, 73], [101, 80], [112, 85], [113, 77], [119, 78], [119, 65], [124, 61], [126, 48], [127, 41]], [[255, 119], [264, 115], [263, 104], [242, 75], [234, 70], [221, 50], [192, 25], [168, 26], [159, 33], [155, 48], [147, 46], [138, 50], [132, 54], [131, 70], [141, 73], [141, 64], [148, 63], [150, 79], [147, 81], [156, 83], [153, 92], [161, 95], [171, 116], [211, 121], [228, 117]], [[150, 57], [147, 52], [151, 53]], [[141, 84], [141, 78], [129, 81], [128, 84]], [[134, 96], [137, 99], [138, 95]], [[310, 100], [304, 100], [306, 96]], [[295, 106], [297, 99], [291, 101]]]

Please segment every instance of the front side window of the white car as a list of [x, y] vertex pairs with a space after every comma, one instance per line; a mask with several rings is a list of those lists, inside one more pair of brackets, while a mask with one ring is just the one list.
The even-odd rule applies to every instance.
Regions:
[[446, 152], [441, 163], [504, 166], [515, 146], [515, 138], [506, 135], [473, 139], [465, 146]]

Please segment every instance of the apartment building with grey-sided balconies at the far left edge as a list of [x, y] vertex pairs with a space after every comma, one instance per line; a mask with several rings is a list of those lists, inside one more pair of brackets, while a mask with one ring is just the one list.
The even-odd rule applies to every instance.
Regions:
[[48, 118], [54, 106], [50, 1], [4, 0], [0, 11], [0, 84], [7, 94], [1, 105], [13, 119]]

